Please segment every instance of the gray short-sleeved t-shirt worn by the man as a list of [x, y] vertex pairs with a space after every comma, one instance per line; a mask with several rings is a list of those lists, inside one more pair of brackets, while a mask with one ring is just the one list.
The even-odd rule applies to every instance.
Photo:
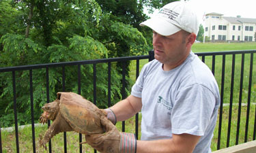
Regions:
[[142, 99], [141, 140], [188, 133], [201, 136], [194, 152], [211, 152], [220, 105], [218, 84], [193, 52], [171, 71], [163, 71], [159, 61], [147, 63], [132, 86], [132, 95]]

